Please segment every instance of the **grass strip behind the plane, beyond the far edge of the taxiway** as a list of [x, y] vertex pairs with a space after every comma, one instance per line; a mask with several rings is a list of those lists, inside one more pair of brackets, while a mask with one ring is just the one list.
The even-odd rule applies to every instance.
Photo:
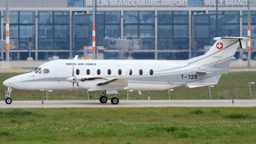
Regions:
[[[3, 81], [9, 77], [16, 76], [20, 73], [0, 73], [0, 93], [2, 97], [0, 100], [4, 100], [4, 86]], [[211, 88], [212, 99], [249, 99], [248, 96], [248, 76], [250, 81], [256, 81], [256, 72], [230, 72], [229, 74], [223, 74], [218, 84]], [[256, 99], [256, 84], [251, 84], [252, 97]], [[129, 93], [130, 100], [147, 100], [147, 93], [150, 93], [151, 100], [167, 100], [168, 92], [164, 91], [142, 91], [142, 95], [139, 95], [137, 91]], [[90, 92], [90, 100], [99, 100], [101, 93]], [[74, 100], [86, 100], [86, 91], [75, 91]], [[112, 97], [109, 95], [109, 97]], [[127, 92], [118, 92], [120, 100], [127, 99]], [[186, 88], [180, 86], [174, 88], [173, 92], [170, 92], [170, 98], [173, 100], [183, 99], [209, 99], [208, 86], [198, 88]], [[34, 90], [16, 90], [12, 91], [13, 100], [45, 100], [45, 92]], [[72, 100], [72, 92], [70, 91], [52, 91], [48, 92], [48, 100]]]

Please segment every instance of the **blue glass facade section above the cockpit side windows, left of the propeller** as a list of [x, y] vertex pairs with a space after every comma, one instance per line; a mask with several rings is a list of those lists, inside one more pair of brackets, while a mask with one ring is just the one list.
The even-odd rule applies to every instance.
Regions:
[[69, 12], [38, 12], [38, 49], [69, 49]]

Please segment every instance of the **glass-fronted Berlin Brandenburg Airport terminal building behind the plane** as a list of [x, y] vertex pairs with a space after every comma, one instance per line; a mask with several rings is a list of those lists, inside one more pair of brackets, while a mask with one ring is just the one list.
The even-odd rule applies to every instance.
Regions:
[[[9, 0], [11, 60], [27, 59], [28, 37], [34, 60], [84, 56], [84, 47], [92, 46], [92, 6], [93, 0]], [[256, 0], [250, 10], [254, 58]], [[0, 40], [5, 40], [5, 13], [3, 0]], [[247, 37], [247, 24], [247, 0], [218, 0], [218, 13], [216, 0], [97, 0], [96, 45], [103, 47], [105, 37], [140, 38], [143, 47], [132, 50], [134, 59], [188, 60], [204, 54], [216, 36]], [[118, 58], [118, 49], [102, 53], [104, 59]], [[236, 57], [241, 54], [246, 51], [238, 50]]]

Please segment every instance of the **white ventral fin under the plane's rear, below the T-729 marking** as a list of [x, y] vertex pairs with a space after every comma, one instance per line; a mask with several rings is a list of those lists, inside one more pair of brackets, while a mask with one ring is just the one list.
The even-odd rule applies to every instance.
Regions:
[[212, 84], [217, 84], [220, 79], [220, 76], [221, 76], [221, 74], [218, 76], [214, 76], [214, 77], [208, 77], [207, 79], [202, 79], [200, 81], [195, 81], [193, 83], [187, 83], [186, 87], [196, 88], [196, 87], [200, 87], [200, 86], [209, 86]]

